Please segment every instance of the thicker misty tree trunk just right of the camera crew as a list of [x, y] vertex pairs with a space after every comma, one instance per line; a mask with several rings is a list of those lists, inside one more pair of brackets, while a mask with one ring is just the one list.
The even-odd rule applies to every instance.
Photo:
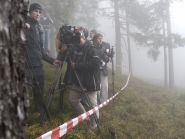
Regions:
[[121, 33], [120, 33], [118, 0], [114, 1], [114, 15], [115, 15], [115, 34], [116, 34], [116, 47], [115, 47], [116, 48], [116, 70], [122, 73]]

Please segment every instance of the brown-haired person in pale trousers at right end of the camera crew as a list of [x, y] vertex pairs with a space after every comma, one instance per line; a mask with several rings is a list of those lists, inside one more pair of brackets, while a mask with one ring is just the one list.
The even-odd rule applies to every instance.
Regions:
[[100, 78], [101, 78], [101, 91], [98, 92], [98, 101], [102, 103], [108, 99], [108, 70], [107, 63], [109, 62], [110, 44], [102, 41], [103, 36], [99, 33], [93, 37], [93, 44], [98, 48], [101, 66], [100, 66]]

